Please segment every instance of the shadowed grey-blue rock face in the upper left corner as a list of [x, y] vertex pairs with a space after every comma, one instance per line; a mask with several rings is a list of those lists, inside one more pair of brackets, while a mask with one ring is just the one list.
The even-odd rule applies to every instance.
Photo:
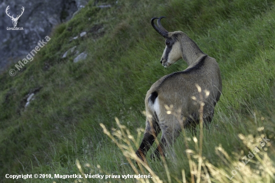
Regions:
[[[0, 71], [11, 61], [25, 57], [37, 41], [49, 35], [52, 27], [67, 21], [73, 13], [84, 7], [88, 0], [3, 0], [0, 2]], [[7, 30], [13, 27], [8, 13], [13, 17], [24, 12], [18, 18], [16, 27], [22, 30]], [[17, 61], [18, 61], [17, 60]]]

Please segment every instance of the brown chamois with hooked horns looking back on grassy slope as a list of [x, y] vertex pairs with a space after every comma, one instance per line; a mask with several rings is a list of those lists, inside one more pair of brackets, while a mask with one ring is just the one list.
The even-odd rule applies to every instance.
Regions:
[[[164, 155], [164, 147], [175, 141], [182, 127], [195, 127], [199, 122], [200, 102], [204, 103], [203, 125], [209, 125], [221, 94], [221, 77], [216, 60], [203, 53], [182, 31], [168, 32], [163, 28], [160, 23], [163, 17], [151, 19], [153, 28], [166, 38], [160, 63], [168, 67], [183, 58], [188, 67], [161, 77], [146, 93], [146, 126], [141, 144], [135, 152], [142, 160], [160, 130], [162, 135], [151, 155], [153, 158]], [[157, 19], [157, 26], [154, 19]]]

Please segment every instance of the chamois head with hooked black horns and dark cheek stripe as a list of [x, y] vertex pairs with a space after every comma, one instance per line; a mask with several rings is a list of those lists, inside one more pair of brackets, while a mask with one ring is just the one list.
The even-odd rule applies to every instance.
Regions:
[[[160, 63], [163, 66], [168, 67], [172, 63], [176, 62], [182, 57], [182, 51], [180, 46], [180, 37], [182, 36], [183, 32], [181, 31], [174, 31], [168, 32], [160, 23], [160, 19], [165, 18], [165, 16], [160, 16], [159, 18], [153, 17], [151, 19], [151, 24], [153, 28], [163, 37], [165, 37], [165, 49], [160, 59]], [[157, 19], [157, 26], [154, 24], [154, 19]]]

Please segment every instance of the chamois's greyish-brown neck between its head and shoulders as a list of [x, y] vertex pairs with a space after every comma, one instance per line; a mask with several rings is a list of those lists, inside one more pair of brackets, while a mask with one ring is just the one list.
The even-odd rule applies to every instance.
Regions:
[[187, 35], [183, 36], [181, 39], [181, 52], [182, 58], [189, 66], [196, 64], [199, 58], [205, 55]]

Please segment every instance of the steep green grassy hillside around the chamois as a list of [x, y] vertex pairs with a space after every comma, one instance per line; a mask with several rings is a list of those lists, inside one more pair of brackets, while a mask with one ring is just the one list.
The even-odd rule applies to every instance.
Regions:
[[[97, 7], [101, 4], [111, 7]], [[221, 70], [223, 93], [210, 130], [203, 130], [201, 182], [274, 182], [274, 0], [91, 0], [55, 27], [48, 43], [15, 76], [0, 74], [0, 181], [14, 181], [5, 178], [6, 173], [136, 174], [123, 164], [123, 140], [116, 137], [117, 146], [99, 124], [109, 131], [125, 130], [117, 126], [117, 117], [137, 139], [126, 146], [136, 149], [145, 125], [146, 91], [161, 76], [186, 68], [183, 60], [169, 68], [159, 63], [164, 38], [151, 27], [150, 18], [161, 15], [167, 17], [162, 25], [168, 31], [185, 32]], [[82, 31], [87, 36], [80, 37]], [[75, 53], [62, 58], [73, 46], [87, 57], [77, 63]], [[24, 107], [30, 93], [34, 99]], [[259, 144], [259, 136], [267, 136], [269, 143], [229, 180], [226, 174], [232, 176], [242, 157]], [[148, 158], [151, 170], [138, 171], [176, 182], [184, 181], [183, 169], [187, 182], [193, 176], [197, 180], [198, 143], [186, 130], [165, 161]], [[104, 178], [101, 181], [135, 182]], [[99, 181], [20, 181], [78, 180]]]

